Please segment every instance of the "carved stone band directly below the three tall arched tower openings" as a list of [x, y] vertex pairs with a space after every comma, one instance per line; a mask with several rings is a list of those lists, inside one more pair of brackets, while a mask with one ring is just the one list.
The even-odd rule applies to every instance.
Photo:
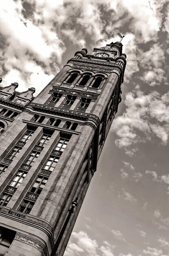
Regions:
[[98, 93], [92, 93], [92, 92], [83, 92], [83, 91], [79, 91], [79, 90], [75, 90], [75, 89], [64, 89], [61, 87], [58, 87], [56, 85], [53, 85], [53, 89], [50, 90], [50, 92], [62, 92], [63, 94], [70, 94], [70, 95], [74, 95], [74, 96], [79, 96], [79, 97], [88, 97], [90, 99], [97, 99], [99, 97], [100, 94]]

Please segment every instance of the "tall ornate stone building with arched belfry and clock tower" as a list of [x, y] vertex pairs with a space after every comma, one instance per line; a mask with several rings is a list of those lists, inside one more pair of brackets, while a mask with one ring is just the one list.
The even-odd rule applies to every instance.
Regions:
[[121, 101], [125, 58], [119, 42], [82, 49], [35, 98], [18, 83], [0, 88], [0, 255], [64, 254]]

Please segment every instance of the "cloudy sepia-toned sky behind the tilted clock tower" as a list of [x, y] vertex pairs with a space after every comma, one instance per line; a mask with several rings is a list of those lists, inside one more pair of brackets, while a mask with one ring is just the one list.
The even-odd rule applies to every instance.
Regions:
[[76, 51], [117, 33], [122, 102], [64, 256], [169, 256], [169, 2], [1, 2], [1, 85], [20, 92], [37, 95]]

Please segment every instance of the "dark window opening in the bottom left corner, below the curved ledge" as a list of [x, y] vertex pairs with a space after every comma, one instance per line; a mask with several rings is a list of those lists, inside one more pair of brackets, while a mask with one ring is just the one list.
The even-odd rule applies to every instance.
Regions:
[[4, 227], [0, 227], [0, 254], [5, 255], [9, 249], [16, 232]]

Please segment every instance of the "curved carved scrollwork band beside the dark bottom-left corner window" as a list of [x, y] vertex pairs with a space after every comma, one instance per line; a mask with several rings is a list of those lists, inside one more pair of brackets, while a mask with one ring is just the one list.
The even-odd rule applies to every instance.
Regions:
[[14, 239], [22, 243], [26, 243], [27, 245], [32, 245], [33, 247], [35, 247], [41, 252], [42, 256], [49, 255], [46, 250], [46, 247], [39, 240], [35, 238], [31, 238], [30, 236], [26, 236], [17, 232]]

